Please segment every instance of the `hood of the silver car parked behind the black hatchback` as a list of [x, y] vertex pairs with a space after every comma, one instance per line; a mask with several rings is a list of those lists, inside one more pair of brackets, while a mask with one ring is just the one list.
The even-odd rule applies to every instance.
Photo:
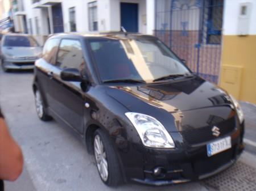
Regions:
[[39, 56], [42, 53], [40, 46], [35, 47], [2, 47], [3, 54], [15, 56], [15, 57], [34, 57]]

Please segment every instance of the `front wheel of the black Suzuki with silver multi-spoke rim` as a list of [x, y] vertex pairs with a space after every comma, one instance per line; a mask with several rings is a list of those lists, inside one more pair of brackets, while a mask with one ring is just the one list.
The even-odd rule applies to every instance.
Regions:
[[101, 180], [108, 186], [121, 184], [121, 168], [109, 135], [103, 130], [97, 129], [93, 137], [93, 148], [94, 158]]

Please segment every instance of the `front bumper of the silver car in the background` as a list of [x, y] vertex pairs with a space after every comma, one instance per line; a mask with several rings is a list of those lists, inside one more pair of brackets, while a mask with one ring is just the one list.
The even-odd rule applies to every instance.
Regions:
[[3, 65], [6, 69], [30, 70], [34, 69], [36, 60], [4, 60]]

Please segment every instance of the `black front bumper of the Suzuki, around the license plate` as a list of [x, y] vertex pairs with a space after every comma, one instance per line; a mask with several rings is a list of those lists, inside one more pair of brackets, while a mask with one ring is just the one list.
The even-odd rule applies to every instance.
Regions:
[[[212, 141], [199, 146], [186, 146], [183, 143], [175, 150], [132, 146], [135, 150], [131, 151], [130, 157], [126, 154], [126, 159], [123, 159], [126, 178], [148, 185], [167, 185], [201, 180], [215, 175], [234, 164], [243, 151], [243, 127], [233, 131], [229, 136], [232, 138], [232, 148], [210, 157], [207, 156], [206, 145]], [[127, 158], [131, 161], [127, 162]], [[156, 167], [162, 168], [163, 173], [155, 176]]]

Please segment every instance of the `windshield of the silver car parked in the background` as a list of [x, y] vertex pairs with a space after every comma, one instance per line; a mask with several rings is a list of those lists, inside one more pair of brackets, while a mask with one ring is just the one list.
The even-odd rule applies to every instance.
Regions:
[[30, 36], [6, 36], [3, 46], [22, 46], [31, 47], [39, 46], [38, 43]]

